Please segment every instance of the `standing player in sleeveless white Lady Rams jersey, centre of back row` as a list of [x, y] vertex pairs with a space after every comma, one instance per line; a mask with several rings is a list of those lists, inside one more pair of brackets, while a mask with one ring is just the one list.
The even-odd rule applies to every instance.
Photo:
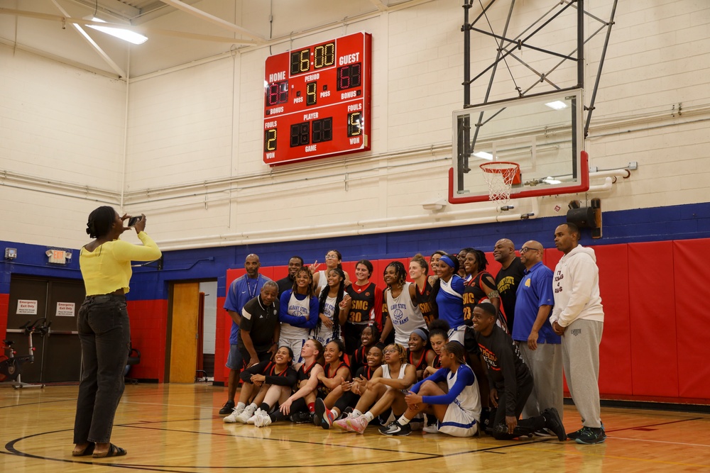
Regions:
[[404, 346], [409, 343], [409, 335], [415, 328], [427, 330], [427, 322], [415, 302], [416, 286], [405, 282], [406, 277], [407, 271], [401, 262], [393, 261], [385, 268], [384, 280], [387, 289], [384, 291], [384, 299], [387, 320], [380, 337], [381, 341], [386, 340], [394, 328], [395, 343]]

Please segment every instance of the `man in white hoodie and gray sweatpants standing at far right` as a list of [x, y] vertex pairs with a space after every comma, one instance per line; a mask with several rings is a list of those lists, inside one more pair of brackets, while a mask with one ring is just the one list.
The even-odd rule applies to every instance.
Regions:
[[562, 335], [564, 375], [582, 421], [582, 428], [567, 438], [594, 444], [606, 439], [599, 404], [599, 343], [604, 311], [596, 255], [591, 248], [579, 245], [580, 237], [579, 228], [573, 223], [555, 228], [555, 246], [564, 256], [555, 267], [555, 308], [550, 323], [552, 330]]

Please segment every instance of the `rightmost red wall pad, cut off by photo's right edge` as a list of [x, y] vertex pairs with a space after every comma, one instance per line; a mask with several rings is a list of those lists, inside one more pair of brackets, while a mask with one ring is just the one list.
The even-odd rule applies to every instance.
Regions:
[[[679, 395], [710, 398], [710, 239], [673, 242]], [[668, 341], [664, 336], [662, 343]]]

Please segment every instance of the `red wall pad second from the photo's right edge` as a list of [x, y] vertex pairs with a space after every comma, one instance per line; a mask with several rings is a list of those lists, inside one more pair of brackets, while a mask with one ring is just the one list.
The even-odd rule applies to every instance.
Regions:
[[[628, 245], [631, 382], [635, 396], [679, 396], [673, 243]], [[613, 270], [613, 267], [612, 267]]]

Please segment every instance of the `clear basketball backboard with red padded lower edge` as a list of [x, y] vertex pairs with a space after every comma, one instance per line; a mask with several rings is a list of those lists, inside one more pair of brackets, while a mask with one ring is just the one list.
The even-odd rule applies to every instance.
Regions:
[[581, 89], [471, 106], [453, 115], [449, 202], [490, 200], [486, 162], [515, 162], [520, 183], [510, 199], [589, 189]]

